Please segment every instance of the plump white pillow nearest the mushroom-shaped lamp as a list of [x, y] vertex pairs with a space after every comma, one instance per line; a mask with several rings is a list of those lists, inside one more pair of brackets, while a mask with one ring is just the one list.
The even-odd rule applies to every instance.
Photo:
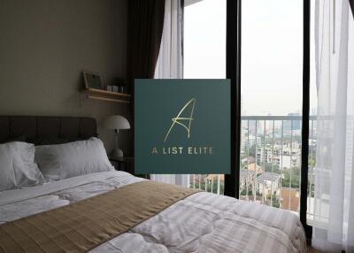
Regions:
[[35, 161], [48, 180], [63, 180], [83, 174], [114, 170], [105, 152], [104, 143], [97, 138], [36, 146]]

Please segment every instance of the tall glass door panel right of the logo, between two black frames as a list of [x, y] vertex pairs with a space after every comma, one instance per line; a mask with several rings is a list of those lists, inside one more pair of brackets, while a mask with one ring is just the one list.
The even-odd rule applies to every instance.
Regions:
[[242, 1], [240, 198], [299, 212], [303, 1]]

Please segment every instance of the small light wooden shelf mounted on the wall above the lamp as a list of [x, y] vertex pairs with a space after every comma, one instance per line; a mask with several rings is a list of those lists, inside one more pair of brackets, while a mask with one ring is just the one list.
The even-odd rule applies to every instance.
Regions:
[[113, 92], [98, 88], [85, 88], [82, 91], [86, 98], [115, 103], [130, 103], [130, 94]]

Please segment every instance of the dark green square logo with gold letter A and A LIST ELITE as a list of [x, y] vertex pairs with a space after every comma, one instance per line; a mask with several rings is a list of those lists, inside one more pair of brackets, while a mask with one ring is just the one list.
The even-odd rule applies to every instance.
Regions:
[[135, 173], [230, 173], [229, 80], [135, 80]]

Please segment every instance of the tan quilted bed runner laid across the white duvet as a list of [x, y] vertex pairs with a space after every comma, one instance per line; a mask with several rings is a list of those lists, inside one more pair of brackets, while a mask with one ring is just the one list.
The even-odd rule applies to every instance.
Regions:
[[141, 181], [0, 226], [0, 252], [86, 252], [196, 193]]

